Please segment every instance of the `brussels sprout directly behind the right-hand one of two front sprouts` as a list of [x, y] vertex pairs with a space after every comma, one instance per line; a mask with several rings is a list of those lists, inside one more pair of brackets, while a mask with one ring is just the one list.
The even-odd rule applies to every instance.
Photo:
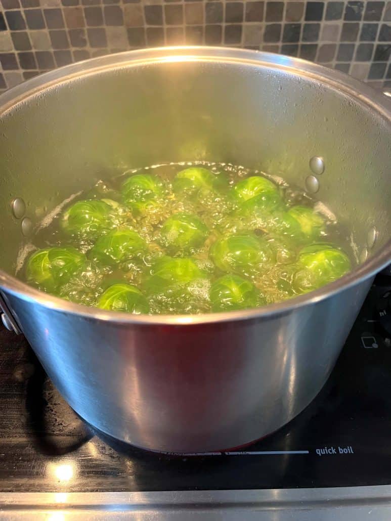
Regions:
[[247, 233], [218, 239], [211, 246], [210, 256], [222, 271], [245, 273], [258, 270], [270, 261], [272, 252], [263, 238]]

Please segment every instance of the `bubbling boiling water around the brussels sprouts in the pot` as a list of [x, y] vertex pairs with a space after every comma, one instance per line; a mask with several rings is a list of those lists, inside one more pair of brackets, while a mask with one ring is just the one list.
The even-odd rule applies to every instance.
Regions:
[[[209, 169], [217, 179], [224, 179], [226, 185], [222, 190], [204, 191], [189, 195], [173, 190], [173, 181], [179, 171], [197, 166]], [[160, 200], [153, 206], [142, 212], [135, 212], [133, 207], [129, 207], [124, 200], [121, 187], [124, 181], [135, 174], [146, 174], [158, 176], [163, 182], [163, 194]], [[272, 179], [277, 185], [277, 193], [283, 202], [284, 209], [277, 210], [278, 215], [282, 215], [297, 205], [306, 206], [316, 210], [317, 215], [322, 215], [322, 230], [316, 237], [299, 237], [294, 232], [269, 229], [262, 223], [259, 224], [256, 215], [246, 215], [241, 213], [240, 205], [233, 202], [233, 187], [238, 181], [249, 176], [267, 176], [260, 172], [247, 170], [243, 167], [227, 164], [213, 163], [186, 163], [186, 164], [165, 164], [152, 166], [140, 170], [127, 171], [123, 175], [111, 179], [102, 180], [96, 183], [90, 191], [81, 193], [78, 197], [66, 204], [62, 210], [50, 218], [48, 226], [38, 228], [38, 232], [32, 239], [33, 249], [47, 249], [52, 246], [75, 247], [79, 252], [85, 254], [85, 262], [71, 274], [67, 272], [66, 277], [60, 278], [60, 282], [54, 287], [47, 287], [42, 280], [34, 280], [28, 275], [26, 265], [20, 270], [18, 276], [27, 280], [30, 284], [43, 291], [50, 292], [56, 296], [89, 306], [104, 307], [101, 302], [102, 294], [111, 287], [112, 284], [125, 283], [140, 290], [143, 305], [133, 306], [128, 311], [133, 313], [150, 314], [178, 314], [178, 313], [207, 313], [211, 311], [229, 311], [230, 309], [242, 309], [265, 305], [268, 303], [279, 302], [297, 294], [308, 291], [308, 289], [298, 289], [294, 280], [297, 272], [303, 267], [299, 266], [300, 252], [303, 247], [313, 243], [332, 243], [336, 249], [343, 250], [350, 258], [351, 264], [355, 263], [351, 247], [348, 243], [348, 230], [343, 229], [335, 216], [321, 203], [311, 200], [307, 194], [286, 184], [282, 179]], [[84, 233], [69, 233], [64, 229], [64, 213], [75, 204], [76, 201], [84, 200], [109, 200], [113, 206], [111, 218], [113, 219], [111, 229], [129, 229], [136, 231], [145, 241], [146, 248], [132, 258], [121, 258], [119, 262], [102, 262], [92, 255], [93, 246], [97, 237], [96, 233], [91, 236]], [[115, 202], [115, 204], [113, 203]], [[271, 215], [273, 217], [273, 211]], [[162, 240], [162, 229], [165, 221], [173, 215], [190, 214], [197, 216], [207, 229], [207, 236], [195, 247], [185, 247], [181, 251], [180, 247], [173, 247], [171, 240], [175, 241], [177, 230], [173, 230], [172, 237], [170, 232]], [[49, 218], [46, 218], [45, 225]], [[107, 234], [109, 230], [102, 230], [101, 234]], [[263, 246], [267, 243], [267, 251], [270, 253], [263, 263], [248, 263], [248, 266], [223, 268], [216, 261], [216, 255], [211, 254], [211, 247], [216, 241], [221, 241], [229, 236], [251, 235], [263, 241]], [[235, 252], [234, 252], [235, 253]], [[267, 255], [269, 255], [269, 253]], [[192, 280], [170, 281], [160, 288], [154, 288], [154, 270], [156, 263], [166, 256], [172, 258], [190, 258], [192, 263], [202, 272], [202, 276]], [[229, 252], [228, 252], [228, 262]], [[217, 265], [216, 265], [216, 262]], [[46, 261], [45, 261], [46, 262]], [[193, 265], [193, 264], [192, 264]], [[230, 265], [231, 266], [231, 265]], [[306, 268], [307, 269], [307, 268]], [[346, 271], [346, 270], [345, 270]], [[228, 288], [228, 300], [225, 304], [211, 303], [211, 287], [213, 284], [226, 275], [235, 275], [249, 282], [256, 291], [256, 300], [242, 299], [238, 294], [237, 287]], [[163, 278], [165, 275], [163, 275]], [[174, 277], [175, 279], [175, 277]], [[156, 279], [159, 283], [161, 279]], [[330, 280], [334, 280], [331, 278]], [[237, 279], [235, 279], [237, 282]], [[321, 284], [318, 284], [320, 286]], [[216, 290], [217, 291], [217, 290]], [[225, 291], [225, 290], [224, 290]], [[227, 297], [224, 293], [222, 299]], [[251, 290], [252, 291], [252, 290]], [[250, 293], [251, 293], [250, 291]], [[215, 292], [216, 293], [216, 292]], [[215, 294], [214, 293], [214, 294]], [[217, 295], [221, 295], [222, 292]], [[255, 293], [251, 293], [252, 296]], [[234, 301], [231, 297], [233, 296]], [[219, 298], [219, 297], [217, 297]], [[125, 311], [124, 299], [112, 299], [112, 305], [107, 309]], [[114, 302], [114, 305], [113, 305]]]

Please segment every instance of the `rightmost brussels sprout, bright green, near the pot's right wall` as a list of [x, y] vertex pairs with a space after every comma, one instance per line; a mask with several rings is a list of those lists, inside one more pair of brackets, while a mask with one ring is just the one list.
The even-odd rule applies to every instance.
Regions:
[[345, 275], [351, 269], [349, 257], [332, 244], [304, 247], [297, 261], [293, 285], [297, 292], [313, 291]]

